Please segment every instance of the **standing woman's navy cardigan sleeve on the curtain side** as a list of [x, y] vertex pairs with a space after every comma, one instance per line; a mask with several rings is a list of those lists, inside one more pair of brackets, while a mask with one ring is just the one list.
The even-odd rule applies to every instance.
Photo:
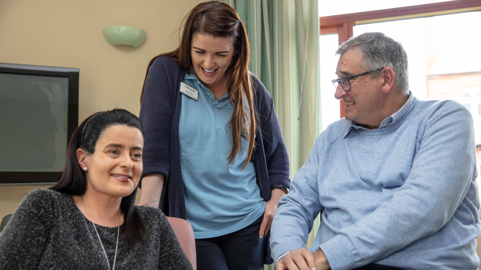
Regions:
[[251, 75], [251, 78], [255, 90], [255, 98], [257, 99], [257, 111], [270, 185], [283, 184], [290, 188], [289, 154], [282, 137], [272, 96], [256, 76]]

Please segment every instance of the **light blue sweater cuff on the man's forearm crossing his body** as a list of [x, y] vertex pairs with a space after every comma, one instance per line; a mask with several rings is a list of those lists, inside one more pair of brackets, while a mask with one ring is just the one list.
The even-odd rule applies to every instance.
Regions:
[[329, 241], [319, 245], [328, 259], [331, 270], [352, 269], [359, 259], [354, 245], [347, 236], [338, 234]]

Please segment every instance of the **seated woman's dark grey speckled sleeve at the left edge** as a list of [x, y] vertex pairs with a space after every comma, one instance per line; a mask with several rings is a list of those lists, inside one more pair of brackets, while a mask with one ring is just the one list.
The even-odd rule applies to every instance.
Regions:
[[37, 269], [54, 219], [53, 200], [36, 189], [22, 200], [0, 234], [0, 269]]

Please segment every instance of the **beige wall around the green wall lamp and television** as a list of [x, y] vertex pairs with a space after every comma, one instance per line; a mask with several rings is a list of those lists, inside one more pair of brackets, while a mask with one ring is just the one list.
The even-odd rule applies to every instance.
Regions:
[[[203, 0], [0, 0], [0, 62], [80, 69], [79, 122], [90, 114], [123, 108], [139, 115], [147, 64], [175, 48], [172, 35]], [[110, 25], [147, 32], [139, 48], [112, 46]], [[0, 219], [31, 190], [48, 186], [0, 185]]]

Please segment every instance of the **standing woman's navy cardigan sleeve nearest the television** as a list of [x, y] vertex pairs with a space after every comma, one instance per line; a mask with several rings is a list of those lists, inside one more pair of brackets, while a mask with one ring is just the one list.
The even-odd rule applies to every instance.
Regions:
[[[174, 62], [174, 65], [173, 63]], [[172, 122], [172, 100], [177, 66], [169, 57], [158, 57], [153, 61], [145, 79], [139, 119], [144, 126], [143, 178], [145, 175], [169, 174], [170, 125]]]

